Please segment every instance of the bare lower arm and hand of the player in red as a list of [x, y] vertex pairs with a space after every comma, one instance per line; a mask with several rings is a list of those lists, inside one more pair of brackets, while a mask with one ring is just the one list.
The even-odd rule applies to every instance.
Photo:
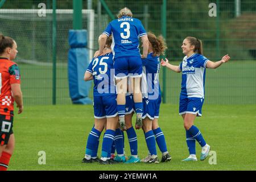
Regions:
[[19, 108], [18, 114], [23, 111], [23, 100], [22, 100], [22, 92], [20, 89], [20, 84], [11, 84], [11, 92], [13, 93], [14, 101]]

